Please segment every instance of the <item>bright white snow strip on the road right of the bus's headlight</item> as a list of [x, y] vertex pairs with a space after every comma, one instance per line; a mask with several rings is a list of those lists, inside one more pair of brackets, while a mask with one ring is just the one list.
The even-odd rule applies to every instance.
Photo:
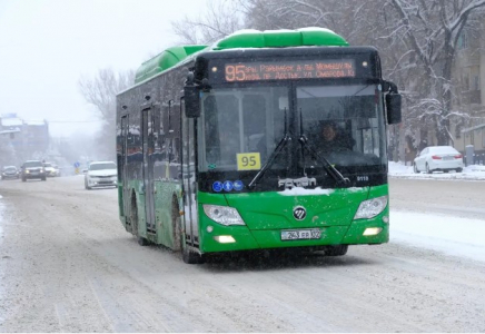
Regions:
[[390, 212], [390, 242], [485, 262], [485, 222]]

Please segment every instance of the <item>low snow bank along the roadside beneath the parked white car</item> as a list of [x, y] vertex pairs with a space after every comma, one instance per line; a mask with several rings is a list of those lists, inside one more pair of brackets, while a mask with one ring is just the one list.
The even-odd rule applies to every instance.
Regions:
[[427, 179], [483, 179], [485, 180], [485, 166], [471, 165], [463, 169], [463, 173], [435, 171], [433, 174], [414, 173], [413, 166], [405, 166], [403, 163], [389, 161], [389, 176], [395, 178], [427, 178]]

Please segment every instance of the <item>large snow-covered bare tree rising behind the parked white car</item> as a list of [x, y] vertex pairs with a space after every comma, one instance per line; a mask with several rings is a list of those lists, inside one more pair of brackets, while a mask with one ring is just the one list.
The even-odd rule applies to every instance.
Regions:
[[[453, 141], [449, 130], [452, 117], [468, 117], [463, 110], [453, 110], [454, 78], [452, 70], [458, 39], [465, 27], [483, 20], [479, 10], [485, 0], [387, 0], [393, 9], [386, 39], [398, 40], [400, 71], [413, 67], [422, 75], [407, 84], [414, 95], [409, 115], [420, 124], [433, 124], [438, 145]], [[478, 16], [474, 16], [478, 13]]]

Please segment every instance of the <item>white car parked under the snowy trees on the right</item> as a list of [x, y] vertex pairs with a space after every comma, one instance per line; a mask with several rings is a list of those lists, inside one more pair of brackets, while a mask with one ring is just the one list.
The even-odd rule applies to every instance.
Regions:
[[463, 170], [463, 156], [452, 146], [428, 146], [423, 149], [414, 159], [414, 173]]

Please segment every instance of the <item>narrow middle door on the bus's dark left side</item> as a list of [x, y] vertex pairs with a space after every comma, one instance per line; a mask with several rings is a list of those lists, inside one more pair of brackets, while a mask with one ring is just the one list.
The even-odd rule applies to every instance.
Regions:
[[143, 188], [147, 233], [155, 234], [154, 108], [142, 109]]

